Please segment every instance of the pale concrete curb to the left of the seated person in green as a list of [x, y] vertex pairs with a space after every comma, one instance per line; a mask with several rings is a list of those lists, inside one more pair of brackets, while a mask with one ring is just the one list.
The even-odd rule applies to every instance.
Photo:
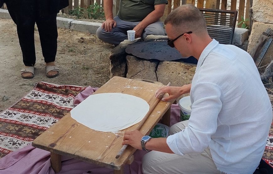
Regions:
[[[8, 10], [0, 8], [0, 19], [11, 19]], [[63, 29], [72, 29], [83, 33], [96, 34], [101, 23], [78, 21], [69, 18], [57, 17], [57, 27]]]

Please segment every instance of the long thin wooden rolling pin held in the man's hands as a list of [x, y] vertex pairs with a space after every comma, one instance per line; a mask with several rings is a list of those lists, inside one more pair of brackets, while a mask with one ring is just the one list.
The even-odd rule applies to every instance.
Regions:
[[[171, 85], [171, 82], [169, 82], [167, 86], [170, 86], [170, 85]], [[136, 130], [139, 130], [142, 127], [142, 125], [147, 120], [147, 118], [150, 116], [150, 114], [153, 112], [153, 109], [156, 107], [156, 105], [161, 100], [163, 95], [164, 94], [161, 94], [158, 98], [152, 97], [152, 99], [150, 100], [151, 101], [150, 109], [149, 109], [148, 113], [145, 115], [145, 117], [139, 122], [138, 126], [136, 127]], [[123, 152], [125, 151], [127, 146], [128, 145], [122, 146], [119, 153], [116, 155], [116, 159], [118, 159], [123, 154]]]

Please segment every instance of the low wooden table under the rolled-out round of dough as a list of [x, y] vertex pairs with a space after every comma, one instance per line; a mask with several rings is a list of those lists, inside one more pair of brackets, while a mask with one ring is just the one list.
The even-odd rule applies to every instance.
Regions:
[[[162, 86], [115, 76], [94, 94], [121, 92], [143, 98], [150, 104], [149, 101], [154, 98], [155, 91]], [[163, 124], [169, 125], [170, 106], [173, 102], [174, 100], [160, 101], [156, 105], [140, 129], [142, 134], [149, 134], [165, 113]], [[78, 123], [68, 113], [37, 137], [32, 145], [51, 152], [51, 167], [56, 173], [61, 170], [61, 155], [114, 169], [114, 173], [123, 173], [124, 165], [131, 164], [133, 161], [133, 153], [136, 149], [128, 146], [120, 158], [115, 159], [115, 156], [122, 147], [124, 132], [134, 130], [137, 125], [124, 129], [120, 133], [100, 132]]]

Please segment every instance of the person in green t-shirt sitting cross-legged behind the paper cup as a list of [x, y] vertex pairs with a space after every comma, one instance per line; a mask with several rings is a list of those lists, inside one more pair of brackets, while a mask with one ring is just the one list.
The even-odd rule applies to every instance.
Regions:
[[113, 0], [104, 0], [105, 22], [97, 30], [97, 36], [104, 42], [119, 45], [128, 39], [127, 30], [135, 30], [135, 38], [147, 35], [165, 35], [163, 16], [167, 0], [120, 0], [119, 12], [113, 18]]

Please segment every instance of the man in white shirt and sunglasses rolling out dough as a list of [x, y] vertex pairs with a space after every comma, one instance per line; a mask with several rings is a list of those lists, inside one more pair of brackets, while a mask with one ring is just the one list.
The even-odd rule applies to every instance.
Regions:
[[272, 107], [251, 56], [212, 40], [198, 8], [183, 5], [165, 20], [168, 45], [198, 59], [192, 84], [163, 87], [168, 101], [190, 92], [190, 119], [174, 124], [168, 138], [126, 132], [123, 144], [153, 150], [143, 173], [253, 173], [262, 158]]

